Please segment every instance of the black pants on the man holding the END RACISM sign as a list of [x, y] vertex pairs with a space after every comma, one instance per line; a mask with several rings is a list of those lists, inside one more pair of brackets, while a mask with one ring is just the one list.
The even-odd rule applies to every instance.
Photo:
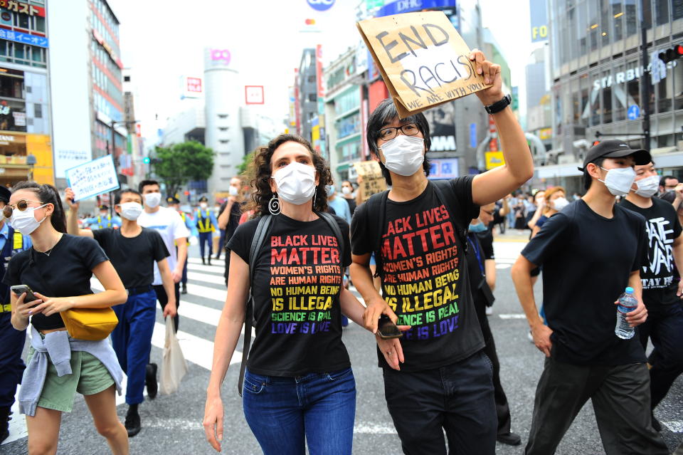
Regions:
[[384, 395], [404, 454], [492, 455], [496, 411], [492, 365], [483, 352], [418, 372], [384, 369]]

